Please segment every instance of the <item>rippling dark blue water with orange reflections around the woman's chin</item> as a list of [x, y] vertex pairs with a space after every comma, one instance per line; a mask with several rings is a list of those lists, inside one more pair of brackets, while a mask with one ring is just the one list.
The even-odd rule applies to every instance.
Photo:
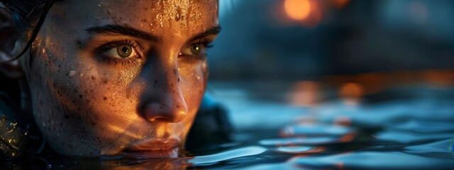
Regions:
[[[395, 87], [377, 96], [295, 106], [291, 84], [211, 84], [230, 111], [232, 142], [179, 159], [87, 160], [52, 168], [454, 169], [454, 88]], [[304, 104], [304, 103], [303, 103]], [[306, 102], [307, 104], [307, 102]]]

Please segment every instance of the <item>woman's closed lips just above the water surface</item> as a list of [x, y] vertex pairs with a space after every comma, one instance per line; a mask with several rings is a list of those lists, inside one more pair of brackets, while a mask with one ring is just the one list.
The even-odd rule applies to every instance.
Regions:
[[179, 141], [173, 138], [140, 142], [123, 149], [121, 155], [130, 159], [177, 158]]

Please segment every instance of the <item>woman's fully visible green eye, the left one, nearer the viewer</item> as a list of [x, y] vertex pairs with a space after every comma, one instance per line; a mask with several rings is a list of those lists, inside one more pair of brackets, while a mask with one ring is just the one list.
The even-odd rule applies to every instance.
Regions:
[[143, 57], [143, 49], [134, 40], [109, 42], [96, 49], [103, 61], [121, 65], [138, 64]]

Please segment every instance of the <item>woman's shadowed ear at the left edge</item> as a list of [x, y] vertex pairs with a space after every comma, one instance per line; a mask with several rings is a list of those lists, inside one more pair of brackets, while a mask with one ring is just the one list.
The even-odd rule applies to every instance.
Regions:
[[11, 12], [0, 2], [0, 72], [11, 79], [23, 77], [19, 61], [10, 61], [21, 52], [22, 41], [22, 38], [18, 37]]

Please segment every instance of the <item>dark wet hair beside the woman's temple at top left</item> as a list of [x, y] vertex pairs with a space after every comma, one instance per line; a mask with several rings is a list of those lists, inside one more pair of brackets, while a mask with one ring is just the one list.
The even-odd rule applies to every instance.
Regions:
[[47, 16], [50, 7], [52, 7], [54, 1], [58, 0], [0, 0], [6, 5], [14, 24], [16, 25], [18, 35], [23, 36], [28, 40], [26, 47], [22, 52], [11, 58], [16, 60], [23, 55], [28, 48], [31, 47], [33, 41], [35, 41], [36, 35], [44, 23], [45, 16]]

